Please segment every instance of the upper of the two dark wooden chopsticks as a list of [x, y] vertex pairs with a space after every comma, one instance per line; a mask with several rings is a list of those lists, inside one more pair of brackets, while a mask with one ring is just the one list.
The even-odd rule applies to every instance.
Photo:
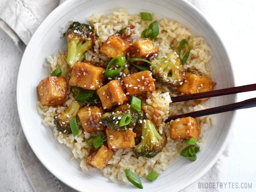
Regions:
[[194, 93], [189, 95], [176, 96], [176, 97], [172, 97], [171, 99], [172, 99], [172, 103], [175, 103], [175, 102], [181, 102], [181, 101], [230, 95], [230, 94], [242, 93], [247, 91], [255, 91], [255, 90], [256, 90], [256, 84], [250, 84], [250, 85], [224, 88], [224, 89], [218, 89], [218, 90], [207, 91], [207, 92]]

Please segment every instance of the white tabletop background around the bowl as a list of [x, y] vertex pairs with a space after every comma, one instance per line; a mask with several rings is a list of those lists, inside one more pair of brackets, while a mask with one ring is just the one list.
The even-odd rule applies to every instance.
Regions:
[[[256, 1], [190, 2], [204, 13], [223, 40], [234, 69], [236, 86], [256, 83]], [[12, 40], [0, 29], [0, 192], [33, 191], [15, 149], [16, 135], [20, 128], [16, 107], [16, 79], [21, 57], [22, 54]], [[256, 92], [238, 94], [238, 100], [255, 96]], [[236, 113], [227, 149], [211, 170], [214, 175], [209, 177], [208, 173], [200, 182], [252, 182], [251, 190], [239, 191], [256, 191], [255, 115], [256, 108]]]

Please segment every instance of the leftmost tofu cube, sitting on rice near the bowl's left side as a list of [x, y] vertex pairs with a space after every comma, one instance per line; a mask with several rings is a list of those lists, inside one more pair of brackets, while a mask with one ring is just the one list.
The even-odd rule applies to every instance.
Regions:
[[64, 77], [49, 76], [38, 84], [37, 92], [42, 105], [62, 105], [68, 94], [68, 83]]

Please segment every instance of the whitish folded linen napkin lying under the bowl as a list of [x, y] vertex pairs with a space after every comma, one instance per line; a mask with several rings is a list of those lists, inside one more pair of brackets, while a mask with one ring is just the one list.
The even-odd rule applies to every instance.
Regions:
[[[20, 48], [20, 51], [23, 52], [39, 24], [56, 6], [58, 6], [58, 4], [66, 0], [3, 1], [4, 3], [0, 5], [0, 28], [12, 38], [15, 44]], [[197, 0], [190, 0], [190, 2], [197, 6], [201, 4], [201, 2]], [[16, 149], [35, 192], [75, 191], [60, 182], [41, 164], [28, 145], [22, 129], [20, 129], [16, 140]], [[182, 191], [199, 192], [198, 182], [219, 182], [218, 176], [220, 170], [223, 169], [223, 163], [227, 155], [228, 150], [225, 150], [216, 164], [202, 176], [202, 178]]]

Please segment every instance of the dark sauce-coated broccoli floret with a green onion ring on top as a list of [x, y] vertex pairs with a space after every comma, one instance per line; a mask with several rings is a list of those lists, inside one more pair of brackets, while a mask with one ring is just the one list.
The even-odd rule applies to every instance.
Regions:
[[[136, 110], [126, 108], [127, 105], [120, 106], [116, 108], [116, 112], [107, 112], [102, 115], [100, 118], [100, 122], [102, 125], [107, 126], [108, 128], [112, 130], [127, 130], [127, 129], [133, 129], [136, 124], [141, 124], [142, 119], [144, 118], [144, 114], [142, 111], [138, 112]], [[119, 126], [119, 122], [122, 118], [122, 116], [130, 114], [131, 115], [131, 121], [130, 124], [126, 126]]]

